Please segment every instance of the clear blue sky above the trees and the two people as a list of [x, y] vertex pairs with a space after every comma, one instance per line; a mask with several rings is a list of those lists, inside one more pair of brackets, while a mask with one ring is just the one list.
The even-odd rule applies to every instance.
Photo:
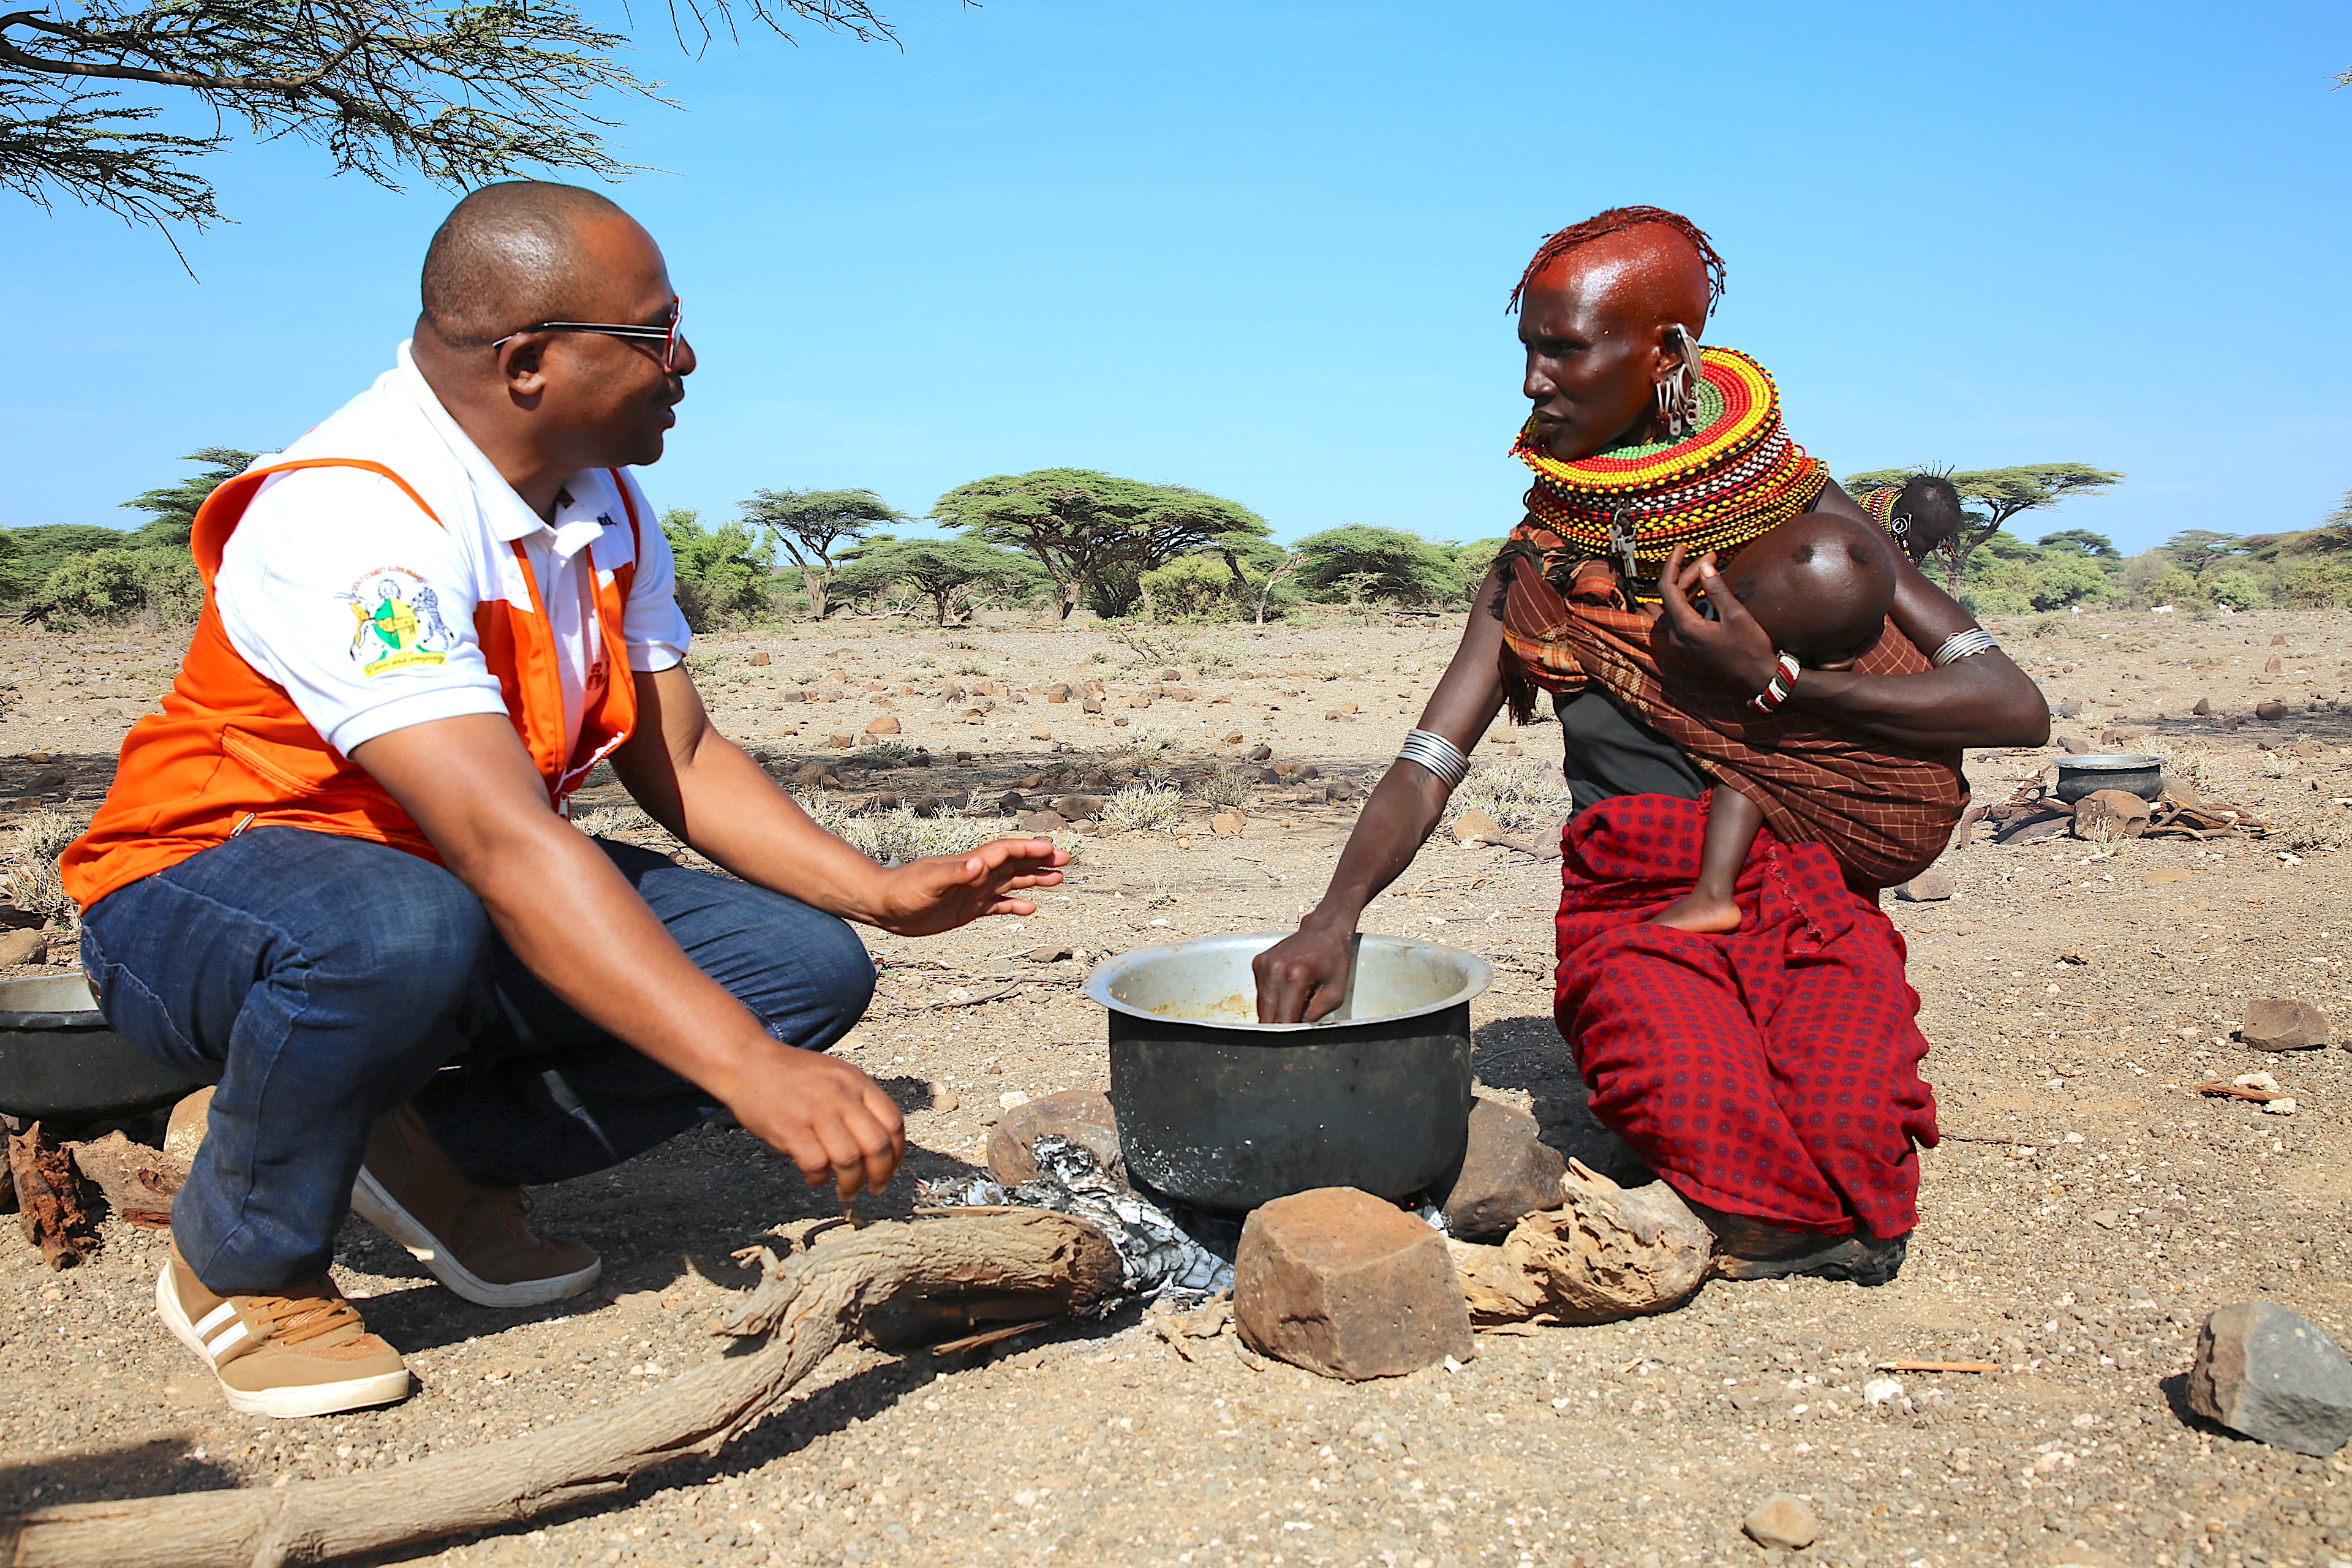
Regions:
[[[649, 7], [637, 7], [640, 16]], [[2310, 527], [2352, 487], [2352, 14], [2272, 5], [1082, 5], [898, 0], [906, 49], [804, 33], [640, 71], [614, 190], [703, 369], [661, 505], [1103, 468], [1296, 538], [1517, 520], [1503, 299], [1623, 202], [1712, 230], [1708, 339], [1832, 473], [2124, 470], [2049, 527], [2126, 548]], [[19, 301], [7, 522], [275, 447], [414, 317], [449, 195], [209, 160], [183, 237], [0, 197]], [[2030, 531], [2042, 531], [2034, 527]]]

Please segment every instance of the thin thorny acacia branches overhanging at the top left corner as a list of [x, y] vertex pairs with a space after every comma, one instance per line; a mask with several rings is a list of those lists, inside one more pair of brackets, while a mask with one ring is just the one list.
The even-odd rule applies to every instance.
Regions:
[[[967, 0], [969, 2], [969, 0]], [[793, 16], [894, 38], [868, 0], [670, 0], [684, 47], [734, 35], [736, 12], [783, 35]], [[122, 85], [322, 146], [339, 174], [397, 190], [402, 169], [477, 186], [522, 169], [633, 172], [604, 146], [602, 94], [668, 103], [616, 56], [626, 33], [572, 0], [59, 0], [0, 14], [0, 188], [125, 221], [216, 221], [191, 162], [230, 136], [146, 129], [162, 108]]]

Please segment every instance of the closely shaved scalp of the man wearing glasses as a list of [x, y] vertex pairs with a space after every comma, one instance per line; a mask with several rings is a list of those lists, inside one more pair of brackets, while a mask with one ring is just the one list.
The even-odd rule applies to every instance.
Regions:
[[461, 200], [426, 249], [419, 327], [480, 348], [532, 322], [597, 320], [581, 233], [635, 221], [595, 190], [517, 179]]

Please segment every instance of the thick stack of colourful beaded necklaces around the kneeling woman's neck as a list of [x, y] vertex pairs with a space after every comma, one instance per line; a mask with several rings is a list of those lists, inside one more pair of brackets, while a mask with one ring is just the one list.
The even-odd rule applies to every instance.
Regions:
[[1536, 470], [1526, 522], [1602, 559], [1656, 567], [1675, 545], [1733, 550], [1788, 522], [1830, 484], [1788, 437], [1780, 390], [1736, 348], [1700, 348], [1696, 430], [1679, 442], [1611, 447], [1559, 461], [1519, 428], [1512, 456]]

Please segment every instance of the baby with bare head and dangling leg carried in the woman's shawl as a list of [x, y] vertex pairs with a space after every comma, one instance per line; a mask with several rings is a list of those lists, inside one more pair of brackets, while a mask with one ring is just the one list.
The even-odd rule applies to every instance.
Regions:
[[[1684, 592], [1698, 585], [1715, 557], [1684, 567]], [[1757, 618], [1773, 646], [1806, 670], [1844, 670], [1877, 646], [1896, 599], [1896, 562], [1884, 534], [1837, 527], [1835, 520], [1795, 517], [1755, 541], [1731, 562], [1724, 581]], [[1776, 682], [1788, 696], [1788, 675]], [[1769, 693], [1759, 703], [1778, 708]], [[1769, 708], [1766, 708], [1769, 712]], [[1698, 884], [1649, 919], [1675, 931], [1738, 931], [1731, 889], [1755, 846], [1764, 811], [1733, 788], [1708, 797], [1708, 837], [1698, 853]]]

